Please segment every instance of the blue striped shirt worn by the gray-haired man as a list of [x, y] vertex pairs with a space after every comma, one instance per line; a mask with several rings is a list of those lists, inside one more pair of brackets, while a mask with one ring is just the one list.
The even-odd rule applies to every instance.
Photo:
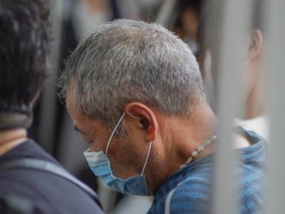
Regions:
[[[245, 131], [251, 142], [247, 148], [236, 149], [239, 162], [239, 213], [259, 213], [265, 161], [265, 141], [252, 131]], [[148, 214], [165, 213], [165, 201], [171, 194], [170, 213], [210, 213], [214, 154], [200, 158], [170, 175], [155, 195]]]

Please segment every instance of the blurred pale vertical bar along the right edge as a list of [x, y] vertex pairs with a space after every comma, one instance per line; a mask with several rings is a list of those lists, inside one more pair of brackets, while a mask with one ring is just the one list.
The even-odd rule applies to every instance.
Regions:
[[285, 1], [264, 1], [266, 9], [266, 55], [269, 84], [270, 137], [266, 168], [265, 213], [285, 213]]

